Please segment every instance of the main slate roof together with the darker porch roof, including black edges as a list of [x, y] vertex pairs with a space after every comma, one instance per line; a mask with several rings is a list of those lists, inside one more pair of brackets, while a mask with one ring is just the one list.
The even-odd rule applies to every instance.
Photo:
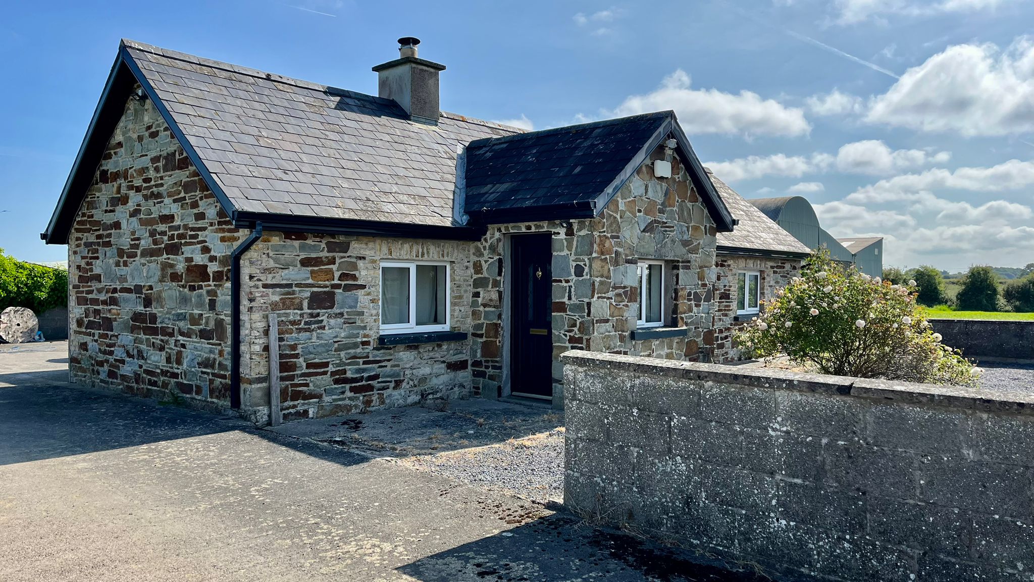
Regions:
[[496, 212], [496, 223], [533, 220], [521, 208], [549, 219], [579, 217], [557, 212], [572, 207], [595, 215], [669, 136], [719, 230], [733, 224], [670, 111], [526, 134], [451, 113], [430, 125], [391, 99], [123, 39], [42, 234], [48, 242], [67, 240], [136, 83], [245, 228], [263, 221], [272, 229], [479, 238], [479, 229], [454, 223], [457, 191], [468, 214], [478, 214], [473, 226], [489, 222], [485, 209]]

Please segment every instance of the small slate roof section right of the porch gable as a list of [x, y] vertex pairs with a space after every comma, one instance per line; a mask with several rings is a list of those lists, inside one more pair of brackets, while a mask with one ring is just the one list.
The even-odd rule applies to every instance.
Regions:
[[746, 253], [760, 251], [764, 254], [801, 254], [811, 250], [783, 230], [754, 204], [744, 200], [729, 184], [719, 179], [710, 168], [705, 169], [711, 182], [722, 196], [732, 215], [739, 221], [732, 232], [718, 233], [718, 251]]

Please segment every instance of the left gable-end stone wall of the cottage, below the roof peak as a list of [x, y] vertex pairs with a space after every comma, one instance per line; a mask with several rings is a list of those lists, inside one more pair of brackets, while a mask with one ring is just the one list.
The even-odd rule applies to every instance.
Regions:
[[241, 234], [150, 100], [128, 100], [68, 239], [71, 380], [230, 400]]

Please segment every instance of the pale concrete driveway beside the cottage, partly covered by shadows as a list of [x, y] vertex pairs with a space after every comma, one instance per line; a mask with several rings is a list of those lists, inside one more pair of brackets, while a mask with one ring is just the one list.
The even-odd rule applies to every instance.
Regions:
[[518, 498], [68, 386], [0, 346], [0, 580], [746, 580]]

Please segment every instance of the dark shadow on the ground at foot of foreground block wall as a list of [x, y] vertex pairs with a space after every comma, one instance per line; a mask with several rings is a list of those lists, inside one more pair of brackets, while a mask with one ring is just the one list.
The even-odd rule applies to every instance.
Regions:
[[690, 561], [688, 554], [553, 514], [397, 569], [422, 582], [475, 580], [761, 582], [768, 578]]

